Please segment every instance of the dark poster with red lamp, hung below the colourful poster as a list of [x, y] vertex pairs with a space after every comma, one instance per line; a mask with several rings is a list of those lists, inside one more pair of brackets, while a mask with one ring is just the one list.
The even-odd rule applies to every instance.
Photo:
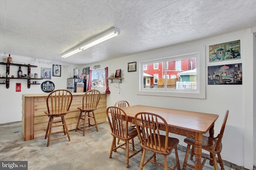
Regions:
[[208, 66], [208, 85], [241, 85], [242, 63]]

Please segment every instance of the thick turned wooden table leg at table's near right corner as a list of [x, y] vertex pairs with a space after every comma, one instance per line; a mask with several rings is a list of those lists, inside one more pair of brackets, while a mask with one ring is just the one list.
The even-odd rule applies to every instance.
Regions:
[[202, 162], [201, 162], [201, 156], [202, 156], [202, 133], [196, 133], [195, 135], [195, 169], [196, 170], [202, 170]]

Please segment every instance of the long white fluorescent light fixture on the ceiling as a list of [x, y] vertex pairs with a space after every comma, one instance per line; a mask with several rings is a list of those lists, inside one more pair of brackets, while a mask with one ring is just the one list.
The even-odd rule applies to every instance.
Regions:
[[113, 38], [115, 36], [118, 36], [120, 34], [120, 30], [118, 28], [112, 28], [110, 30], [107, 30], [106, 32], [100, 34], [99, 36], [97, 36], [96, 38], [93, 38], [92, 40], [89, 40], [86, 43], [83, 43], [82, 45], [75, 47], [73, 49], [71, 49], [70, 51], [62, 54], [62, 57], [66, 58], [70, 55], [73, 55], [75, 53], [78, 53], [82, 50], [85, 50], [87, 48], [90, 48], [98, 43], [104, 42], [110, 38]]

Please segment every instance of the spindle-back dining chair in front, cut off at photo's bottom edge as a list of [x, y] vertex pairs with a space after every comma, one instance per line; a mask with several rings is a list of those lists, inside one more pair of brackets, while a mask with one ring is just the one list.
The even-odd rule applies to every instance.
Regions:
[[[135, 125], [140, 138], [140, 146], [143, 150], [140, 162], [140, 170], [143, 169], [148, 162], [152, 162], [158, 166], [164, 167], [165, 170], [171, 169], [167, 164], [167, 155], [170, 155], [172, 150], [175, 150], [176, 164], [173, 169], [180, 169], [180, 161], [178, 157], [177, 138], [169, 137], [168, 124], [164, 118], [154, 113], [137, 113], [134, 117]], [[160, 134], [160, 128], [165, 130], [165, 135]], [[142, 133], [139, 133], [142, 130]], [[146, 150], [153, 152], [146, 161]], [[156, 162], [156, 154], [164, 156], [164, 164]], [[153, 159], [153, 160], [152, 160]]]

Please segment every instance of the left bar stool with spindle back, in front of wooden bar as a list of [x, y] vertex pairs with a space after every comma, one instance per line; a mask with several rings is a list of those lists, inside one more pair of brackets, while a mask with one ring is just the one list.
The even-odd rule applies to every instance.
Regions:
[[[55, 90], [52, 91], [46, 98], [47, 111], [44, 111], [48, 115], [49, 121], [46, 129], [45, 139], [48, 137], [47, 146], [50, 145], [51, 140], [57, 140], [61, 138], [68, 137], [70, 141], [70, 136], [68, 132], [68, 125], [66, 123], [65, 115], [69, 112], [69, 108], [72, 102], [72, 93], [68, 90]], [[61, 118], [54, 120], [54, 118]], [[52, 128], [62, 127], [63, 130], [57, 128], [60, 131], [52, 132]], [[52, 134], [64, 132], [64, 136], [51, 138]]]

